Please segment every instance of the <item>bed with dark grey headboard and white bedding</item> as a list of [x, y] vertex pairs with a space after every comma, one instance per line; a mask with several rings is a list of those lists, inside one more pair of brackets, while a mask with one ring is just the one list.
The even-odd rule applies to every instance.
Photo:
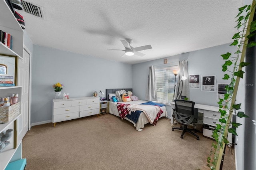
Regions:
[[[106, 89], [106, 96], [107, 96], [107, 99], [109, 101], [109, 110], [108, 112], [112, 115], [115, 115], [117, 117], [120, 118], [120, 110], [118, 111], [118, 106], [120, 107], [120, 105], [144, 105], [145, 107], [147, 106], [147, 108], [151, 108], [152, 105], [156, 105], [156, 103], [150, 103], [148, 101], [143, 101], [143, 100], [138, 100], [138, 101], [129, 101], [129, 102], [122, 102], [122, 101], [119, 101], [119, 102], [112, 102], [110, 101], [110, 99], [108, 98], [109, 97], [109, 94], [114, 94], [116, 91], [120, 91], [120, 90], [125, 90], [126, 92], [128, 91], [132, 91], [132, 89]], [[160, 110], [162, 111], [161, 114], [157, 113], [157, 111], [154, 111], [155, 115], [159, 115], [159, 117], [157, 118], [157, 120], [161, 117], [167, 117], [168, 114], [167, 114], [167, 111], [166, 111], [166, 107], [165, 105], [162, 105], [160, 103], [159, 104], [159, 108]], [[157, 105], [158, 105], [157, 104]], [[151, 106], [150, 106], [151, 105]], [[137, 114], [137, 111], [134, 111], [136, 114]], [[126, 119], [127, 121], [131, 122], [134, 124], [134, 127], [136, 128], [136, 130], [138, 131], [142, 131], [142, 128], [144, 128], [144, 125], [150, 123], [152, 125], [155, 125], [154, 123], [152, 123], [150, 121], [150, 119], [148, 119], [148, 116], [144, 113], [144, 111], [138, 111], [140, 114], [138, 116], [138, 118], [136, 118], [136, 120], [134, 118], [131, 118], [133, 117], [133, 114], [132, 113], [131, 115], [128, 114], [126, 115], [126, 117], [124, 117], [123, 119]], [[122, 116], [122, 115], [121, 115]], [[121, 118], [120, 118], [121, 119]], [[156, 120], [156, 121], [157, 121]], [[156, 123], [156, 122], [155, 122]]]

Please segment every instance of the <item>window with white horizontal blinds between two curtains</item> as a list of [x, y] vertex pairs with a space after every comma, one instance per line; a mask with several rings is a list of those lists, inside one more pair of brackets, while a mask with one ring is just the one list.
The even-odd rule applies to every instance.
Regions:
[[[173, 70], [178, 70], [179, 67], [175, 64], [164, 64], [155, 67], [156, 74], [156, 90], [157, 101], [161, 103], [171, 103], [174, 94], [175, 76]], [[177, 77], [176, 77], [177, 83]]]

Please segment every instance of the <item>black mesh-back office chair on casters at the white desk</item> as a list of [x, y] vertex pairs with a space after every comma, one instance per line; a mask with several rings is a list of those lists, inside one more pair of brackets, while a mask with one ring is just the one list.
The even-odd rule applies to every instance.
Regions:
[[196, 131], [194, 128], [188, 128], [188, 125], [192, 123], [197, 123], [198, 119], [198, 109], [194, 108], [195, 102], [188, 100], [175, 99], [175, 110], [172, 115], [177, 123], [181, 124], [180, 127], [172, 127], [172, 131], [174, 129], [183, 130], [180, 138], [183, 138], [183, 135], [186, 132], [193, 134], [196, 136], [196, 139], [199, 140], [199, 136], [192, 131]]

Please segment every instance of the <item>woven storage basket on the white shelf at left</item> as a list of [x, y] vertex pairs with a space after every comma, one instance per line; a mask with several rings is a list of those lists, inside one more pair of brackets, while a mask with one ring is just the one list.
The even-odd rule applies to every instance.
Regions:
[[20, 102], [8, 107], [0, 107], [0, 123], [8, 123], [20, 113]]

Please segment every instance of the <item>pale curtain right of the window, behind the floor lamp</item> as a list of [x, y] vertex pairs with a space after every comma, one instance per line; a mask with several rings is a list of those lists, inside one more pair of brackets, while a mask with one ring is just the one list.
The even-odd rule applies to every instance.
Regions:
[[[179, 61], [180, 72], [178, 73], [178, 80], [176, 85], [175, 99], [181, 99], [181, 96], [186, 96], [189, 99], [189, 79], [181, 81], [181, 77], [188, 78], [188, 60]], [[180, 83], [179, 83], [180, 82]]]

